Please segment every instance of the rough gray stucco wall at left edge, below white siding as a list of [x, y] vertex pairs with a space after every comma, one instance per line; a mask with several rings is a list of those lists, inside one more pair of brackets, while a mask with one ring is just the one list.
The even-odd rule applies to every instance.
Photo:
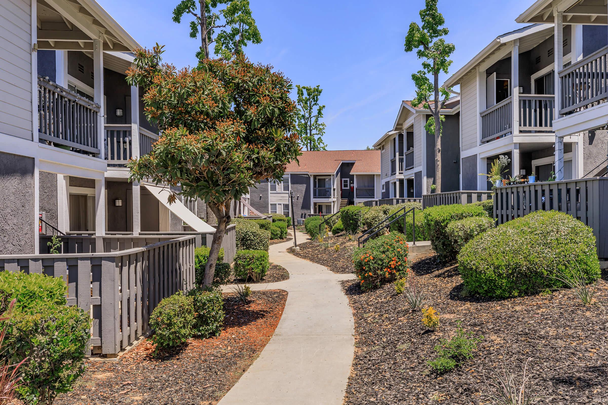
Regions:
[[0, 152], [0, 254], [33, 254], [34, 160]]

